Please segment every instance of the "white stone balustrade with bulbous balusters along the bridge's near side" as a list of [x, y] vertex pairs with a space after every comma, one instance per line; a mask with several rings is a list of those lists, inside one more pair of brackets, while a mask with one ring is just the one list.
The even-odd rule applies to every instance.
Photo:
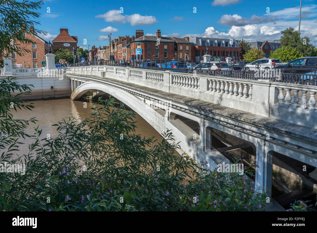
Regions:
[[66, 73], [119, 79], [261, 116], [317, 127], [317, 86], [115, 66], [68, 67]]

